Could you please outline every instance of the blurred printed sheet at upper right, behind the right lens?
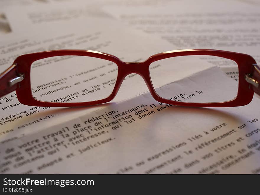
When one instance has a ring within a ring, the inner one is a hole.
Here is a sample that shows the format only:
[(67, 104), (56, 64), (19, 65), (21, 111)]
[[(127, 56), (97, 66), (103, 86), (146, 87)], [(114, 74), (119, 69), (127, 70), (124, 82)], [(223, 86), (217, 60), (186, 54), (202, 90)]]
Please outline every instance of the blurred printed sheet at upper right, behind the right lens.
[(178, 49), (208, 48), (246, 53), (258, 62), (259, 6), (235, 1), (181, 1), (166, 6), (102, 8), (132, 28)]

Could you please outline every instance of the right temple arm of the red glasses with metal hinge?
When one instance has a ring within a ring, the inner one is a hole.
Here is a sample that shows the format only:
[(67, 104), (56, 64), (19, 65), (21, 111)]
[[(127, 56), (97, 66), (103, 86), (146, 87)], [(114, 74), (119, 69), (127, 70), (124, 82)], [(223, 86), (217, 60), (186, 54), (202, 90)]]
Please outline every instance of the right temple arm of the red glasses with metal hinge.
[(260, 68), (258, 65), (253, 64), (254, 68), (251, 74), (247, 74), (245, 79), (252, 85), (252, 90), (260, 95)]

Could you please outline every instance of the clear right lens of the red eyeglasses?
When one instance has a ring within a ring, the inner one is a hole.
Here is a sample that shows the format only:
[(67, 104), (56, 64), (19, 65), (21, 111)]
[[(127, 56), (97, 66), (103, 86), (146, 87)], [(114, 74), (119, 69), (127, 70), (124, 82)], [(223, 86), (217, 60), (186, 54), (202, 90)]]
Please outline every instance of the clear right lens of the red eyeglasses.
[(238, 65), (230, 59), (208, 55), (170, 57), (152, 62), (149, 71), (156, 93), (164, 99), (214, 103), (237, 96)]

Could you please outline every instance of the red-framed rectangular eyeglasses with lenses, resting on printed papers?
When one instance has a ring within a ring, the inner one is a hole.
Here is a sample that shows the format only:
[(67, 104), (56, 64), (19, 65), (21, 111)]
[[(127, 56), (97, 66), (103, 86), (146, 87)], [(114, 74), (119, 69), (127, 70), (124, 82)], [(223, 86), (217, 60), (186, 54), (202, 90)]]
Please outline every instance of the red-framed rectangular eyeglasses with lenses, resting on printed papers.
[(135, 79), (133, 73), (164, 104), (235, 107), (260, 94), (260, 68), (246, 54), (187, 49), (122, 62), (99, 51), (55, 50), (17, 57), (0, 75), (0, 97), (16, 90), (20, 103), (30, 106), (102, 104), (116, 96), (125, 77)]

